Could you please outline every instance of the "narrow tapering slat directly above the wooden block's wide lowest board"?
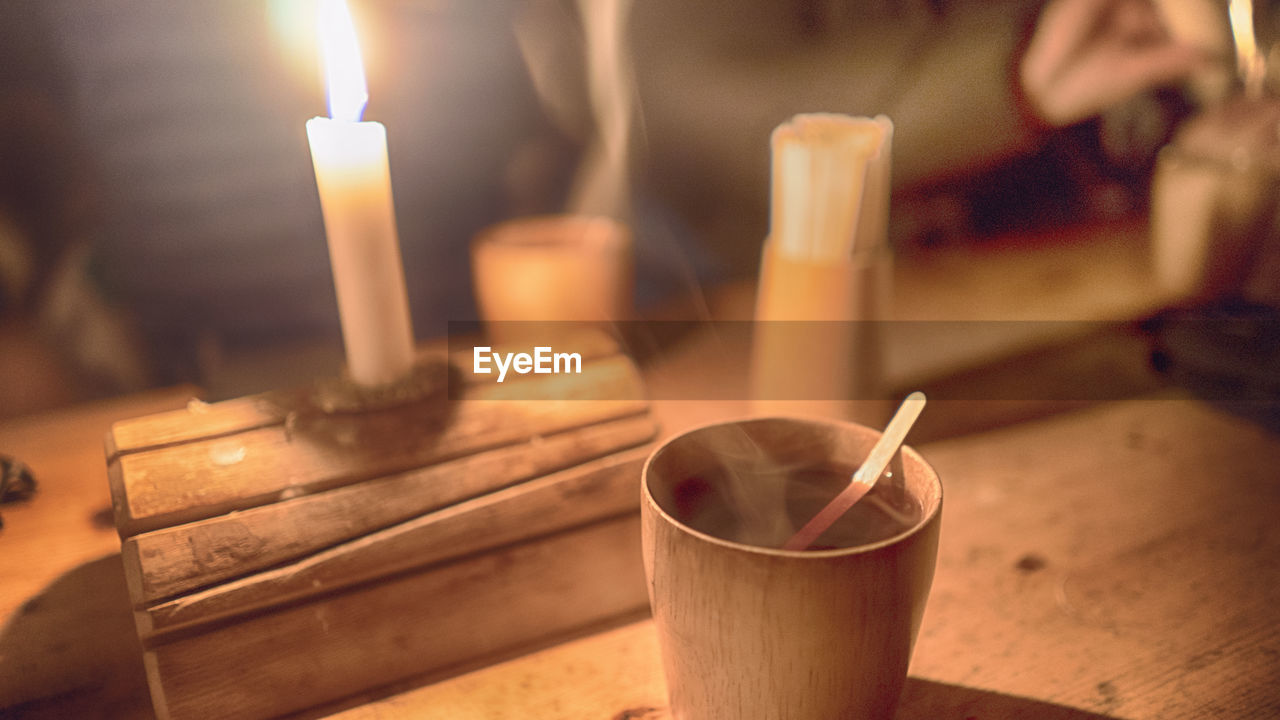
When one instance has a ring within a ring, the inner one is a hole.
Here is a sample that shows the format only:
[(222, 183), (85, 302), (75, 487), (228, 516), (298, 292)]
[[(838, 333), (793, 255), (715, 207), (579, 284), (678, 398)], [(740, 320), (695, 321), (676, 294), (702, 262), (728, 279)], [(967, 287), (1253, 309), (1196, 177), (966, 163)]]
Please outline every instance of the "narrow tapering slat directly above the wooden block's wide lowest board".
[(518, 543), (599, 518), (634, 514), (646, 448), (621, 452), (479, 496), (296, 562), (138, 609), (143, 641), (243, 616), (397, 573)]

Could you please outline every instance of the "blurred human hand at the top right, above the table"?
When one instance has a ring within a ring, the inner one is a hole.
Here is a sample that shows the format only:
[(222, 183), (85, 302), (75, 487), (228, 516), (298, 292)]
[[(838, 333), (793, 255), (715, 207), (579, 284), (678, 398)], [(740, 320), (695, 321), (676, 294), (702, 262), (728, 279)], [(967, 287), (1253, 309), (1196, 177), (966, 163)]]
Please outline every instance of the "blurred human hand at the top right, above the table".
[(1151, 0), (1051, 0), (1018, 79), (1032, 109), (1064, 127), (1185, 79), (1207, 60), (1170, 36)]

